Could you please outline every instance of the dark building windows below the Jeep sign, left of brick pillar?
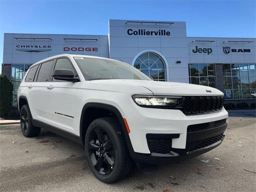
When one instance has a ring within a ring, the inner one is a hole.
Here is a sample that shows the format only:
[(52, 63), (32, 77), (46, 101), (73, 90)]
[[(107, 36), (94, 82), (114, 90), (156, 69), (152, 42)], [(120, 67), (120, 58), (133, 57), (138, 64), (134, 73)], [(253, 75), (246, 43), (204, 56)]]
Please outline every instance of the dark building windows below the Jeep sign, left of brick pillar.
[(216, 68), (212, 63), (188, 64), (189, 82), (217, 88)]

